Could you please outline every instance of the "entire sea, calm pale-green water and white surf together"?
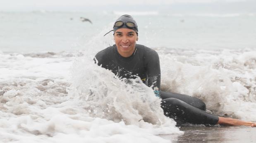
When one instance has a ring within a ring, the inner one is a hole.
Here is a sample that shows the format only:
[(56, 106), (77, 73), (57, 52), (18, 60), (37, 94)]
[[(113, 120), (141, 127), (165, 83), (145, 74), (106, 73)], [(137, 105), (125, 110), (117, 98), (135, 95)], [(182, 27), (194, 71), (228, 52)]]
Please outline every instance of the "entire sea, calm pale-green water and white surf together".
[[(160, 99), (92, 59), (124, 12), (0, 12), (0, 142), (168, 143)], [(130, 12), (160, 57), (161, 89), (256, 121), (256, 14)], [(82, 22), (80, 17), (89, 18)]]

